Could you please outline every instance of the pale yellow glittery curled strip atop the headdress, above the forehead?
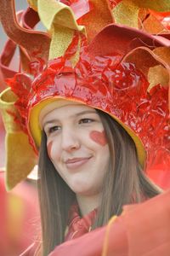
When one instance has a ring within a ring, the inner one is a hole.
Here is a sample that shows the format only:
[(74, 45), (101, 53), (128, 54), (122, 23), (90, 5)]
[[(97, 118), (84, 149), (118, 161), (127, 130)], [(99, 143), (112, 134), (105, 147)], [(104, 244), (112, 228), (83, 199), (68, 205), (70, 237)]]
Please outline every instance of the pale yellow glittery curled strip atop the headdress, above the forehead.
[(83, 26), (78, 26), (70, 7), (51, 0), (38, 0), (38, 14), (48, 31), (52, 32), (49, 59), (65, 54), (71, 44), (74, 31), (85, 32)]

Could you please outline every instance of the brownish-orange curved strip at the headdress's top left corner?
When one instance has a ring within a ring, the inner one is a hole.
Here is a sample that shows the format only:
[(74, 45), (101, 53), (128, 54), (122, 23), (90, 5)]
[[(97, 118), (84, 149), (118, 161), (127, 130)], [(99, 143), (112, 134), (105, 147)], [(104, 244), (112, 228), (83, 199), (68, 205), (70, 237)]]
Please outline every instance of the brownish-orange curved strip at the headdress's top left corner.
[[(48, 59), (50, 38), (47, 33), (35, 32), (20, 26), (14, 13), (14, 0), (0, 1), (0, 19), (5, 32), (16, 44), (26, 49), (31, 61), (35, 56)], [(42, 44), (43, 42), (43, 44)]]

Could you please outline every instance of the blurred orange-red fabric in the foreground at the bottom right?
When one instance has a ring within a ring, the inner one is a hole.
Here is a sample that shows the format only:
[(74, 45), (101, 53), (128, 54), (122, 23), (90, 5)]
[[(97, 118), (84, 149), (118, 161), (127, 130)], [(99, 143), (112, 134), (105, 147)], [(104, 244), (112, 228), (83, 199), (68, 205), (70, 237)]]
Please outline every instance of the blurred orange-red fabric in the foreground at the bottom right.
[(103, 252), (108, 226), (56, 247), (49, 256), (169, 256), (170, 190), (139, 205), (124, 207), (111, 224), (108, 247)]

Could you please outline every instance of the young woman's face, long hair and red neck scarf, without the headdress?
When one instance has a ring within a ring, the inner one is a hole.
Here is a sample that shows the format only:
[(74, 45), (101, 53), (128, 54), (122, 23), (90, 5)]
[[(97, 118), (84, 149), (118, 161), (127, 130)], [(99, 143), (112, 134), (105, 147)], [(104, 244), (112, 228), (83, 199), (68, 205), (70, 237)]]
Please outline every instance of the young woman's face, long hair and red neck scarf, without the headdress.
[(133, 139), (109, 114), (65, 100), (47, 108), (40, 113), (39, 195), (48, 253), (159, 190), (145, 176)]

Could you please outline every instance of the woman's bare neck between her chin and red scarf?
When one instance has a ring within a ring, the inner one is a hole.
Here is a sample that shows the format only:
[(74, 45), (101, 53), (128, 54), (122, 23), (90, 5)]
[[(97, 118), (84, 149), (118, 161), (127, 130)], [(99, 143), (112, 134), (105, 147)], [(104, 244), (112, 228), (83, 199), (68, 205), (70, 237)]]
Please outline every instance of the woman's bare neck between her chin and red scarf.
[(77, 202), (82, 216), (92, 212), (95, 208), (99, 207), (100, 195), (77, 195)]

